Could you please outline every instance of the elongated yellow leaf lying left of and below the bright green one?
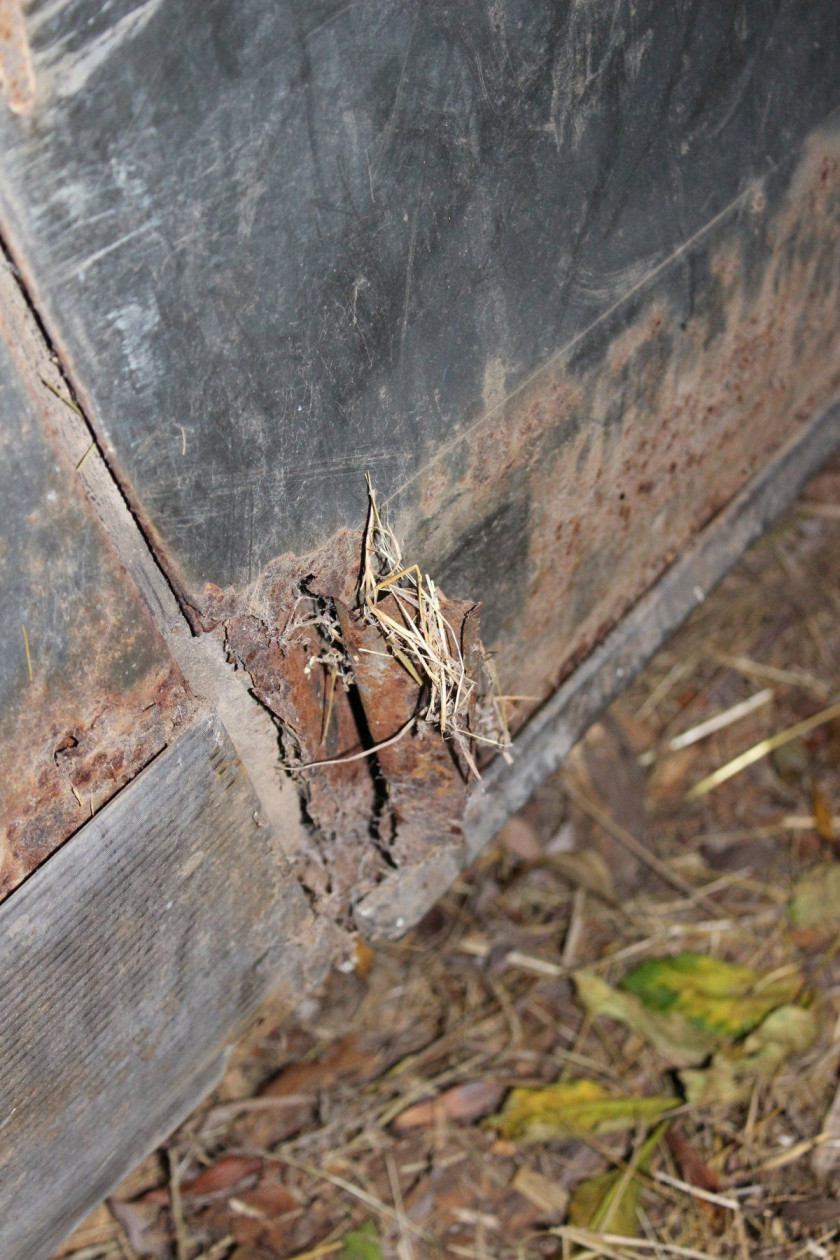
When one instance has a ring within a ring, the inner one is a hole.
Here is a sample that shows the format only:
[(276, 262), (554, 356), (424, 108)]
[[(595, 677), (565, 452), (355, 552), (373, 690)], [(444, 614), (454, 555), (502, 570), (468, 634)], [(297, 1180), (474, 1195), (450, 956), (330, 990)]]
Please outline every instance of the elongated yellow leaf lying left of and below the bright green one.
[(559, 1081), (513, 1089), (489, 1124), (510, 1140), (550, 1142), (579, 1133), (623, 1133), (652, 1124), (679, 1102), (675, 1097), (615, 1097), (597, 1081)]

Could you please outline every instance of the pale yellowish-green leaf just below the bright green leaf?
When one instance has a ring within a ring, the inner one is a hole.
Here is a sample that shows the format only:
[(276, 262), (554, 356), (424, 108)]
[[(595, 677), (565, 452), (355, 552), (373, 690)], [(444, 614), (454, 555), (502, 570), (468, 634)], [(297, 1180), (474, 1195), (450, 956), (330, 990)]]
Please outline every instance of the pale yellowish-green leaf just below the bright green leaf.
[(739, 1046), (729, 1046), (704, 1071), (680, 1072), (689, 1102), (746, 1102), (757, 1080), (768, 1080), (791, 1055), (802, 1053), (820, 1032), (814, 1011), (785, 1005)]

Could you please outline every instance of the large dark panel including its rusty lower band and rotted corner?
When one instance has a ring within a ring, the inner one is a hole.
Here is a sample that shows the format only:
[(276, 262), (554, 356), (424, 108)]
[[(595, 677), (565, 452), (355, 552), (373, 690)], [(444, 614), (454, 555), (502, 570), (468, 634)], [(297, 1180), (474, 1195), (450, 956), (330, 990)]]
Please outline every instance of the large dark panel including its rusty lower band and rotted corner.
[(840, 388), (836, 5), (37, 0), (25, 35), (0, 227), (350, 924), (467, 798), (419, 730), (309, 766), (411, 712), (295, 624), (366, 633), (364, 472), (523, 728)]

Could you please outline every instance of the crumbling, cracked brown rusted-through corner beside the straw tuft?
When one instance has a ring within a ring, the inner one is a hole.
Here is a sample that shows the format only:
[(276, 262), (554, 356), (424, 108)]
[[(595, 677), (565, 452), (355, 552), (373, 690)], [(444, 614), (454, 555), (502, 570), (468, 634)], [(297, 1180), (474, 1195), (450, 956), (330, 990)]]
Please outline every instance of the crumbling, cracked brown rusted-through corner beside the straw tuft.
[[(417, 683), (387, 653), (379, 630), (353, 611), (361, 548), (361, 534), (345, 530), (310, 557), (280, 557), (244, 596), (209, 587), (203, 617), (278, 721), (311, 824), (301, 879), (324, 912), (348, 922), (389, 871), (421, 861), (436, 844), (460, 842), (467, 795), (466, 767), (452, 746), (422, 721), (412, 724), (422, 699)], [(336, 641), (351, 674), (346, 687), (332, 687), (319, 660), (327, 640), (307, 624), (312, 601), (338, 619)], [(447, 601), (446, 611), (468, 655), (477, 610)], [(372, 747), (345, 764), (309, 765)]]

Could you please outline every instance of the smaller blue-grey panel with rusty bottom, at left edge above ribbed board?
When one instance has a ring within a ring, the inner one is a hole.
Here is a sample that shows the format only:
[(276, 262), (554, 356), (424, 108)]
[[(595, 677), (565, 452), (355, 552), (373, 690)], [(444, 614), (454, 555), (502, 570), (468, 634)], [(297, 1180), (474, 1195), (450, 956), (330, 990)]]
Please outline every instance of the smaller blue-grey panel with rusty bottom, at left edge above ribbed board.
[(193, 708), (8, 334), (0, 312), (0, 900)]

